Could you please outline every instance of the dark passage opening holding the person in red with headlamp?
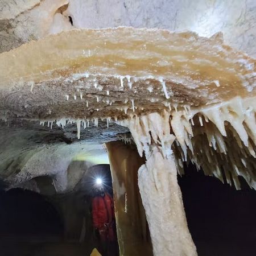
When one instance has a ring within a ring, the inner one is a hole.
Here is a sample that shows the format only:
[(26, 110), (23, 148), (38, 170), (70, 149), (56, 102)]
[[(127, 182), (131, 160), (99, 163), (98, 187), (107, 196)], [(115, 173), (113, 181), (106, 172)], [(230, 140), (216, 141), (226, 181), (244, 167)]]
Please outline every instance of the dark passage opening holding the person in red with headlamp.
[[(85, 200), (89, 205), (93, 231), (89, 229), (87, 233), (93, 233), (91, 240), (94, 247), (102, 256), (118, 256), (112, 175), (109, 164), (90, 167), (81, 180), (80, 187), (84, 189)], [(82, 233), (81, 231), (81, 236)]]

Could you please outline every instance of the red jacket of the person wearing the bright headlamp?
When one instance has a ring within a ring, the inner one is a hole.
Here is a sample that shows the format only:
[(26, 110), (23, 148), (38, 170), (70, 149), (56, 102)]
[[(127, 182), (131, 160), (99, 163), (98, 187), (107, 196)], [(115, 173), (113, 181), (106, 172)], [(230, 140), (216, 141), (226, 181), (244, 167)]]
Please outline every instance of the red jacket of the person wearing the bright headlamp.
[(92, 200), (92, 217), (94, 228), (104, 228), (104, 224), (112, 224), (114, 220), (114, 203), (112, 197), (105, 193)]

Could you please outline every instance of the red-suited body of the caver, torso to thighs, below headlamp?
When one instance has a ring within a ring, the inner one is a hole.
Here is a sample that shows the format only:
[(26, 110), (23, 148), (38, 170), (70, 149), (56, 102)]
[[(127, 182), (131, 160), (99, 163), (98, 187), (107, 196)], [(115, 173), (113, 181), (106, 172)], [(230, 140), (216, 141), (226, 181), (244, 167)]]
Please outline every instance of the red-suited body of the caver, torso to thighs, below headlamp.
[(93, 226), (98, 229), (101, 241), (114, 241), (114, 203), (108, 193), (93, 197), (92, 217)]

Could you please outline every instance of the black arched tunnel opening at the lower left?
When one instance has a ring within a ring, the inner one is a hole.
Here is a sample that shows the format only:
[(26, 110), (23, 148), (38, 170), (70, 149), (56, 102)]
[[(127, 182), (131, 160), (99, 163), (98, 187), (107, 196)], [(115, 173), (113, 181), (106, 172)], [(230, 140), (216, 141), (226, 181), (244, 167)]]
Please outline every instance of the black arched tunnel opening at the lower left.
[(0, 192), (0, 236), (62, 236), (63, 222), (44, 196), (20, 188)]

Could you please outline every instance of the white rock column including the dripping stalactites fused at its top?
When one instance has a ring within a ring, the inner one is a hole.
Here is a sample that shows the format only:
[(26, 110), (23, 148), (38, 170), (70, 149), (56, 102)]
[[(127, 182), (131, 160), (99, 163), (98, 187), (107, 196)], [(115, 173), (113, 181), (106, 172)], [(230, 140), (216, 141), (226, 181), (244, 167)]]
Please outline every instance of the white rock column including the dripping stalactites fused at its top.
[(177, 184), (171, 150), (175, 137), (170, 134), (169, 118), (167, 112), (152, 113), (119, 123), (129, 127), (139, 154), (144, 151), (146, 155), (147, 162), (139, 169), (138, 183), (154, 255), (197, 255)]

